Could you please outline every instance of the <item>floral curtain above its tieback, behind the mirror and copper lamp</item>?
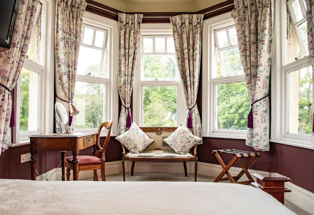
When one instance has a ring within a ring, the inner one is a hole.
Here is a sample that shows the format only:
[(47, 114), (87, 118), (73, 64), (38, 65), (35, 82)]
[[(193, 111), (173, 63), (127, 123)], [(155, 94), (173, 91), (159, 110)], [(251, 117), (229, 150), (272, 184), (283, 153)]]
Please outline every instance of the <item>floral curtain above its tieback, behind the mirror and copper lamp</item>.
[[(57, 0), (55, 13), (56, 95), (67, 107), (73, 102), (85, 0)], [(71, 125), (72, 117), (69, 117)], [(72, 127), (73, 129), (73, 127)]]

